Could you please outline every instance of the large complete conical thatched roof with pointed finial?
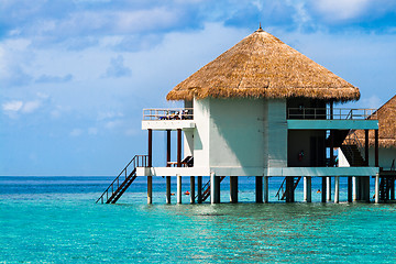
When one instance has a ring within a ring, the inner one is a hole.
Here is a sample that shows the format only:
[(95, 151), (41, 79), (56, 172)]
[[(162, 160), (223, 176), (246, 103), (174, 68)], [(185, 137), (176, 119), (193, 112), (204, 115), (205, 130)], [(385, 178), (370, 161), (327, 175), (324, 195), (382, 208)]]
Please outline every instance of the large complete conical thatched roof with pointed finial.
[(178, 84), (167, 100), (206, 97), (359, 100), (359, 89), (272, 34), (257, 30)]

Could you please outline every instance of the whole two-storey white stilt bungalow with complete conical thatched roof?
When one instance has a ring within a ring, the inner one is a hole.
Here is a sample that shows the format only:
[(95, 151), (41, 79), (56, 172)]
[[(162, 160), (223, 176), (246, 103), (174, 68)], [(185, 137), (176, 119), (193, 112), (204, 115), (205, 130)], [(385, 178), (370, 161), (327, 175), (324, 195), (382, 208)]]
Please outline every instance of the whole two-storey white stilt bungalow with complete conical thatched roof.
[[(358, 193), (359, 199), (369, 201), (370, 178), (375, 176), (378, 202), (376, 114), (371, 109), (333, 108), (334, 102), (359, 98), (356, 87), (260, 28), (169, 91), (166, 99), (184, 101), (183, 109), (143, 111), (147, 155), (133, 157), (97, 202), (114, 204), (139, 176), (147, 177), (148, 204), (153, 176), (166, 177), (168, 204), (172, 177), (177, 178), (178, 204), (186, 176), (190, 202), (210, 197), (218, 204), (224, 178), (230, 180), (230, 202), (238, 202), (239, 176), (255, 177), (256, 202), (268, 202), (270, 177), (284, 177), (277, 197), (287, 202), (295, 200), (295, 189), (304, 178), (304, 199), (310, 202), (311, 177), (321, 177), (326, 202), (331, 200), (333, 177), (333, 199), (339, 202), (339, 177), (348, 177), (348, 201)], [(153, 130), (166, 132), (164, 167), (153, 167)], [(333, 150), (354, 130), (374, 133), (375, 155), (370, 161), (365, 155), (363, 164), (339, 167)], [(172, 131), (177, 132), (174, 162)], [(202, 176), (210, 176), (204, 186)]]

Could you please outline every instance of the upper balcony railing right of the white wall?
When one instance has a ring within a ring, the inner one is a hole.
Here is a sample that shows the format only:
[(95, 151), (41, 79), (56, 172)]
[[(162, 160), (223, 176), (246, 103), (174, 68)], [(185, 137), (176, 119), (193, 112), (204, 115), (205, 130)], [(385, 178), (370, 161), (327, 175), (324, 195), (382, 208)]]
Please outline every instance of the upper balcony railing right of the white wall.
[(334, 108), (288, 108), (287, 119), (334, 119), (334, 120), (358, 120), (377, 119), (376, 109), (351, 109)]

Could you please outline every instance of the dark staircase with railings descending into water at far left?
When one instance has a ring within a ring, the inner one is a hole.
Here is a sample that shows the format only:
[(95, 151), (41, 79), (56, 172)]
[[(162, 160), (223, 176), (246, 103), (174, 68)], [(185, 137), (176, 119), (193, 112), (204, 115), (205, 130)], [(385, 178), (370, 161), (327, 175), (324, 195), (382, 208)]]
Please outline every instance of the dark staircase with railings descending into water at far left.
[(116, 204), (138, 177), (136, 168), (147, 166), (147, 155), (135, 155), (96, 202)]

